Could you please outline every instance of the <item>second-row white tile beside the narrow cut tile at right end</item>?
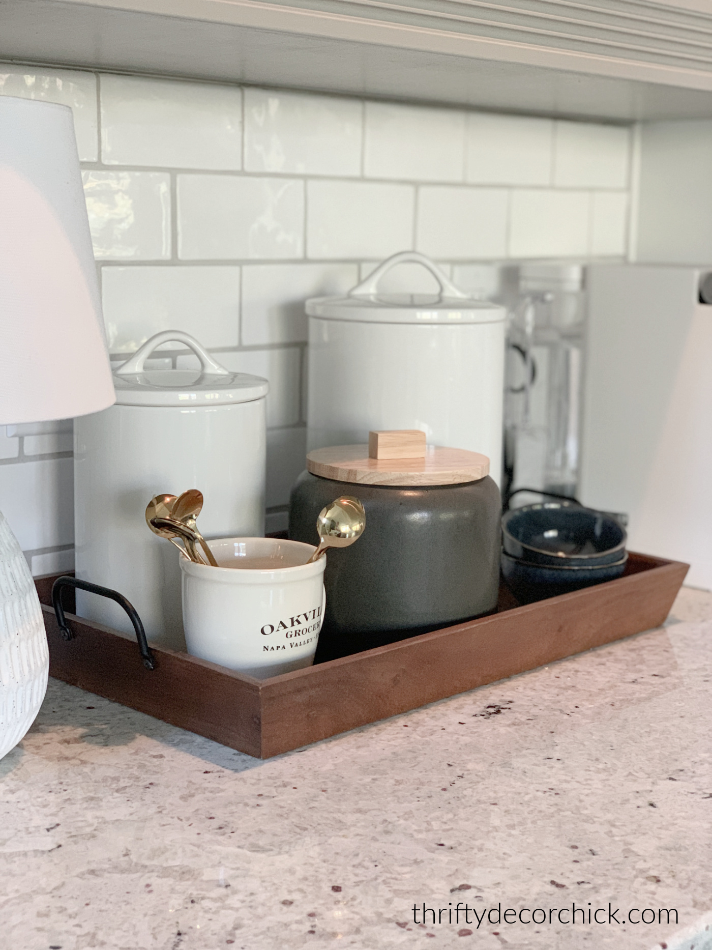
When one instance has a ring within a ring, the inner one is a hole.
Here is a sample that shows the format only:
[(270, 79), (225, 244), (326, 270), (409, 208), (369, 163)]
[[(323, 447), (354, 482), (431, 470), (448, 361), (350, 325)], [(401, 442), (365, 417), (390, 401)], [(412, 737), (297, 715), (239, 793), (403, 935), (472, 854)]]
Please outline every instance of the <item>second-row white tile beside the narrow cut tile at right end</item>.
[(589, 193), (516, 189), (512, 193), (511, 257), (579, 257), (589, 250)]

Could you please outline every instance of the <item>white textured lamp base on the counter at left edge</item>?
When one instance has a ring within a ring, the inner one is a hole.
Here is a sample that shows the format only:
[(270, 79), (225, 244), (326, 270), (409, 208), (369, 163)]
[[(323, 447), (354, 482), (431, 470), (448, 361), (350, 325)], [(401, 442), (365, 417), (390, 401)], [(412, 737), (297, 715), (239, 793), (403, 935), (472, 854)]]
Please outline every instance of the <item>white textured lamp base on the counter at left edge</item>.
[(28, 562), (0, 511), (0, 759), (34, 722), (48, 673), (40, 601)]

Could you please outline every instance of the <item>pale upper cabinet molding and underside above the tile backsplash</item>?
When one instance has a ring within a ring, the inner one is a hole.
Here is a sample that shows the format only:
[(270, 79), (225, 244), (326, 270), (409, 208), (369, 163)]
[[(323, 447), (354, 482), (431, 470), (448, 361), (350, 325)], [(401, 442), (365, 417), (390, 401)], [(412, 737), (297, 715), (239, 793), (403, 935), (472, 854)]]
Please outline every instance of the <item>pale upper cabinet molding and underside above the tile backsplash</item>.
[(0, 22), (5, 60), (621, 121), (712, 115), (701, 0), (0, 0)]

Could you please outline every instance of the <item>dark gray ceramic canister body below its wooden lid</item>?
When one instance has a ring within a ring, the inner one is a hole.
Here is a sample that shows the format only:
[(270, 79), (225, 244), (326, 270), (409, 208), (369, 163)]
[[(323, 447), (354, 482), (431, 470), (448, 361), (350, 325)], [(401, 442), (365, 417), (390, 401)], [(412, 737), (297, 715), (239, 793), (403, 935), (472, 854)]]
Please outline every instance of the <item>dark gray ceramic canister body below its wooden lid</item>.
[[(353, 467), (340, 471), (354, 475)], [(289, 530), (295, 541), (318, 543), (317, 516), (340, 495), (354, 496), (365, 507), (361, 538), (350, 547), (328, 551), (327, 606), (317, 661), (496, 609), (501, 518), (497, 485), (488, 475), (450, 485), (412, 484), (417, 477), (411, 473), (410, 485), (373, 485), (308, 470), (293, 486)]]

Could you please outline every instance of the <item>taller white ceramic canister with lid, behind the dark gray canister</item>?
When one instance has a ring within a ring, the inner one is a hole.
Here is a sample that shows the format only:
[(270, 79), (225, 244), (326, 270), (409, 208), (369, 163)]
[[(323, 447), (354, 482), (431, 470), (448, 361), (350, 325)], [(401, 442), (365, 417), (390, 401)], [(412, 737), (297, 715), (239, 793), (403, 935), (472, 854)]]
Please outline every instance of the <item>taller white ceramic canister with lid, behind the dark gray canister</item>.
[[(379, 294), (387, 271), (418, 262), (440, 294)], [(343, 297), (307, 301), (308, 450), (368, 441), (371, 429), (420, 428), (435, 446), (489, 457), (500, 481), (503, 307), (460, 291), (429, 258), (389, 257)]]

